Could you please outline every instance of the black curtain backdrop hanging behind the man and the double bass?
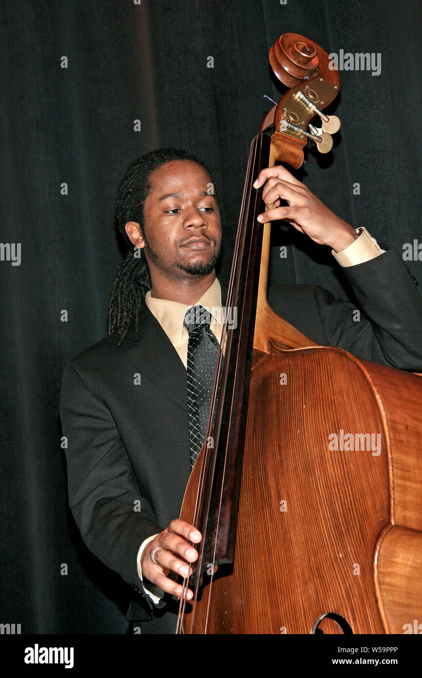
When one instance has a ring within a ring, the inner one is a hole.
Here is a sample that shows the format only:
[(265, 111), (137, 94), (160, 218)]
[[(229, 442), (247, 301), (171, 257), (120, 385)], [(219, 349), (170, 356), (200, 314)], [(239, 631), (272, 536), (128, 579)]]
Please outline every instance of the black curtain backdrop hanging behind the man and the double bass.
[[(335, 147), (326, 157), (308, 148), (297, 176), (380, 241), (421, 242), (421, 3), (17, 0), (2, 14), (1, 241), (20, 243), (21, 260), (0, 261), (0, 622), (22, 633), (122, 634), (128, 589), (70, 515), (58, 416), (64, 365), (106, 334), (122, 256), (119, 179), (157, 146), (203, 157), (228, 273), (249, 144), (272, 106), (263, 97), (284, 92), (268, 52), (294, 31), (327, 52), (381, 54), (378, 76), (340, 73)], [(422, 262), (408, 266), (422, 283)], [(271, 277), (347, 298), (331, 254), (276, 227)]]

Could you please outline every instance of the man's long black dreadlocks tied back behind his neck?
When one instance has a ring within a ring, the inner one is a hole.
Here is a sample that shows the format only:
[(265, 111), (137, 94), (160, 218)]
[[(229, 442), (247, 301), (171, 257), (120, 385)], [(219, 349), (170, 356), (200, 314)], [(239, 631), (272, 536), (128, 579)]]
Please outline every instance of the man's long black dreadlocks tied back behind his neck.
[(139, 317), (146, 292), (151, 289), (150, 272), (143, 250), (133, 247), (125, 225), (128, 221), (140, 224), (144, 229), (144, 203), (151, 190), (150, 176), (171, 160), (190, 160), (201, 165), (211, 174), (206, 165), (196, 155), (183, 148), (157, 148), (136, 159), (127, 168), (119, 184), (116, 195), (116, 222), (129, 251), (117, 269), (110, 300), (108, 302), (107, 332), (118, 332), (119, 344), (123, 342), (132, 321), (135, 332), (139, 330)]

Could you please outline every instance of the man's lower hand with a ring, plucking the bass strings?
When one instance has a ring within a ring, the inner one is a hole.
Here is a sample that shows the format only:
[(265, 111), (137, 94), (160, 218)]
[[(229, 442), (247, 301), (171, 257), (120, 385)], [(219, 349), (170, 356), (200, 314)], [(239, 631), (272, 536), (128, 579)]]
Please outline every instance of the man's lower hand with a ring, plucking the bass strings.
[[(193, 570), (189, 563), (196, 561), (198, 551), (189, 542), (198, 544), (201, 539), (201, 532), (190, 523), (179, 518), (172, 520), (169, 527), (157, 534), (146, 545), (141, 559), (142, 576), (152, 584), (159, 586), (163, 591), (180, 598), (182, 596), (182, 584), (177, 584), (167, 575), (169, 572), (175, 572), (186, 578), (192, 574)], [(154, 553), (154, 559), (158, 565), (151, 559), (151, 553), (154, 549), (159, 549)], [(192, 595), (191, 589), (186, 589), (185, 597), (188, 600), (192, 598)]]

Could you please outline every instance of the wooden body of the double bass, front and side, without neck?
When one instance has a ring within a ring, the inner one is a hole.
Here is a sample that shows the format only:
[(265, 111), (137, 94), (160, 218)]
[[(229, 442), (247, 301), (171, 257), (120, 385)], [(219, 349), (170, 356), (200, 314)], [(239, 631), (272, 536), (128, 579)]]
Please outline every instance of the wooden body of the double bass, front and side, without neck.
[(422, 380), (339, 348), (267, 351), (253, 352), (232, 572), (219, 566), (210, 599), (205, 584), (191, 632), (404, 633), (422, 622)]

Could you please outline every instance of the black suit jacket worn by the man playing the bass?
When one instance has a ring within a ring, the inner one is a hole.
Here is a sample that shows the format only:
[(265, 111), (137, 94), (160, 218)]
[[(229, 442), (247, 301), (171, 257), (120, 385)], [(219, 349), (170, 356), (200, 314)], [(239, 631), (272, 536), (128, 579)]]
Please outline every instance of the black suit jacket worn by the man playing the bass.
[[(421, 296), (398, 250), (344, 272), (360, 321), (354, 304), (311, 285), (270, 287), (270, 305), (318, 344), (422, 371)], [(111, 334), (66, 366), (60, 416), (69, 503), (83, 540), (142, 596), (138, 549), (179, 516), (190, 475), (186, 370), (145, 304), (138, 334), (121, 346)], [(140, 616), (140, 608), (129, 612)]]

